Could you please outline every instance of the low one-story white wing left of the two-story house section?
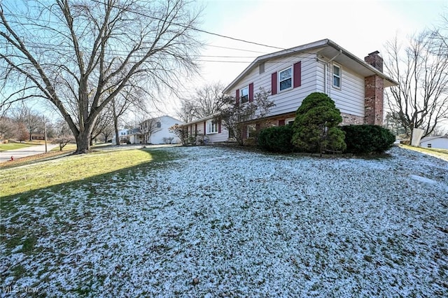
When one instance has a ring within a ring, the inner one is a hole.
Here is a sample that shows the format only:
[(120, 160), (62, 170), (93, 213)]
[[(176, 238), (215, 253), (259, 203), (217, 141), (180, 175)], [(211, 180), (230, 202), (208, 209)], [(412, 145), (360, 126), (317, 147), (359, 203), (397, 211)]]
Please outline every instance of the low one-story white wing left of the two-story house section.
[(211, 115), (183, 125), (185, 136), (193, 136), (197, 141), (204, 140), (205, 143), (220, 143), (228, 141), (232, 136), (223, 125), (219, 115)]

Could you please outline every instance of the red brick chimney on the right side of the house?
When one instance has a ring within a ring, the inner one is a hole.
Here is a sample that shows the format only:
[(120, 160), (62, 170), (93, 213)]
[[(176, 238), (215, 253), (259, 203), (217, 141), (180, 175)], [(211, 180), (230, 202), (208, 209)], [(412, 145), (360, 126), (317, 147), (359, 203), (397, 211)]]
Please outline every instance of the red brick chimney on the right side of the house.
[[(383, 58), (378, 51), (371, 52), (364, 61), (375, 69), (383, 72)], [(365, 113), (364, 123), (369, 125), (383, 125), (384, 82), (378, 75), (367, 76), (365, 83)]]

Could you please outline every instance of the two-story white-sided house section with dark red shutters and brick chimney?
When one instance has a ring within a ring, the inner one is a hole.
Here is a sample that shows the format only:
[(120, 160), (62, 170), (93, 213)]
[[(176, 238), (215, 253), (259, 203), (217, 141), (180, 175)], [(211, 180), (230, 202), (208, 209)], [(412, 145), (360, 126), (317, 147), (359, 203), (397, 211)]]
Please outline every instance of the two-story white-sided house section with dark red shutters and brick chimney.
[(270, 90), (274, 108), (266, 118), (248, 122), (244, 137), (259, 129), (261, 122), (293, 122), (295, 111), (312, 92), (323, 92), (335, 101), (342, 125), (382, 125), (384, 88), (398, 85), (382, 71), (379, 52), (362, 60), (323, 39), (256, 58), (223, 93), (234, 96), (236, 104), (244, 104), (253, 101), (260, 88)]

